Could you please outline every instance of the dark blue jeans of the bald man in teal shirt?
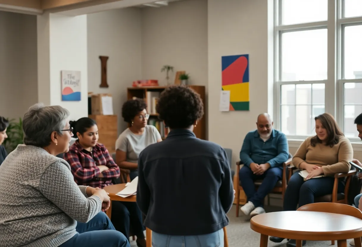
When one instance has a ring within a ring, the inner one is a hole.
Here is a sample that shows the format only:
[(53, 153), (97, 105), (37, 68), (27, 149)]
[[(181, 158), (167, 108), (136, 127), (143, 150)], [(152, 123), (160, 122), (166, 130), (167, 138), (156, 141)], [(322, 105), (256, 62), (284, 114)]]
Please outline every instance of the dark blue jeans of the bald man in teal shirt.
[[(280, 167), (269, 168), (262, 175), (254, 174), (246, 165), (239, 171), (241, 186), (247, 195), (248, 201), (252, 202), (255, 207), (263, 207), (265, 196), (273, 190), (277, 182), (282, 178), (282, 175), (283, 169)], [(257, 179), (263, 179), (263, 182), (256, 191), (254, 181)]]

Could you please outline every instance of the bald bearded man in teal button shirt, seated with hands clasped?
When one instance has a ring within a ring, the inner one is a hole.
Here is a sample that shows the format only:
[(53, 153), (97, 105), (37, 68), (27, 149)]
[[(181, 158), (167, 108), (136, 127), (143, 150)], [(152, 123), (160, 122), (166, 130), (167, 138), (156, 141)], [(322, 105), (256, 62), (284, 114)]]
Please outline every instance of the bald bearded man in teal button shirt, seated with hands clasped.
[[(265, 213), (263, 202), (276, 183), (282, 178), (283, 162), (288, 160), (289, 149), (286, 136), (273, 129), (268, 113), (258, 116), (257, 130), (249, 132), (240, 151), (239, 179), (248, 202), (241, 207), (251, 217)], [(254, 181), (262, 179), (258, 190)]]

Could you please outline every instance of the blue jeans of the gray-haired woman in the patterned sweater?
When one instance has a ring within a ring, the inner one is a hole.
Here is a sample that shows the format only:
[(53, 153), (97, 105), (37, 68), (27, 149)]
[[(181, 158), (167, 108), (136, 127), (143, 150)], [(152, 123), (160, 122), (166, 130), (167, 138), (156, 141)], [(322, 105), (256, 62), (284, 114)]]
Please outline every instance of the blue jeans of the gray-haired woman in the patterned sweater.
[(100, 212), (88, 223), (77, 222), (77, 234), (60, 247), (130, 247), (128, 239), (114, 229), (108, 216)]

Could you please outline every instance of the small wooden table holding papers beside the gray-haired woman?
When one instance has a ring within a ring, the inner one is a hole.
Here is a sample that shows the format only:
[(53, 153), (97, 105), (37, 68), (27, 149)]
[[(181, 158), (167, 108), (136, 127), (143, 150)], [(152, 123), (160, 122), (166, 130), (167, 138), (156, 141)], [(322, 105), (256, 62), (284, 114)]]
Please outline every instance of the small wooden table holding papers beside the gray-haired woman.
[[(136, 196), (128, 196), (123, 198), (121, 196), (116, 195), (119, 191), (123, 190), (126, 187), (125, 183), (120, 183), (118, 185), (110, 185), (104, 187), (104, 190), (109, 193), (109, 197), (111, 199), (111, 205), (109, 209), (106, 211), (106, 214), (109, 218), (112, 215), (112, 201), (120, 201), (120, 202), (136, 202)], [(152, 231), (146, 227), (146, 246), (152, 246)]]

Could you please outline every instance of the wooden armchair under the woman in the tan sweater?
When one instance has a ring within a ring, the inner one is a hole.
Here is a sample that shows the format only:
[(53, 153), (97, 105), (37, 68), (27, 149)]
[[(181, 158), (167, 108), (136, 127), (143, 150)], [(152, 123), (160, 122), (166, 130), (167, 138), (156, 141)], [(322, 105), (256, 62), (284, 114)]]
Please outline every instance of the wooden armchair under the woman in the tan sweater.
[[(289, 169), (289, 179), (293, 174), (293, 170), (296, 168), (293, 165), (288, 166)], [(349, 183), (351, 182), (351, 178), (356, 174), (356, 170), (350, 170), (348, 173), (336, 173), (334, 174), (334, 185), (332, 194), (324, 195), (315, 198), (315, 203), (323, 203), (323, 202), (332, 202), (332, 203), (344, 203), (348, 204), (348, 191), (349, 191)], [(345, 178), (345, 188), (344, 193), (338, 193), (338, 180)], [(288, 179), (288, 181), (289, 181)]]

